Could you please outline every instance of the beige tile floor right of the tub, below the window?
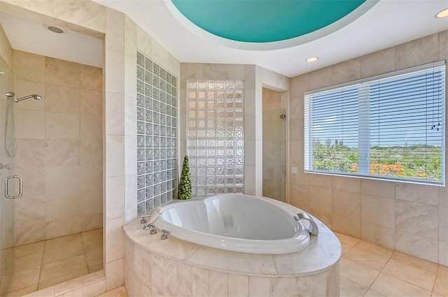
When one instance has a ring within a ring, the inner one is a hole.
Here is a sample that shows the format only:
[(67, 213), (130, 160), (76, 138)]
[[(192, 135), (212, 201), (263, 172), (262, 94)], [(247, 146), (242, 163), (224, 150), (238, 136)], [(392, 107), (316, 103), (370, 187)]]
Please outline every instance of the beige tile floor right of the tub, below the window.
[(340, 296), (448, 297), (448, 267), (336, 233)]

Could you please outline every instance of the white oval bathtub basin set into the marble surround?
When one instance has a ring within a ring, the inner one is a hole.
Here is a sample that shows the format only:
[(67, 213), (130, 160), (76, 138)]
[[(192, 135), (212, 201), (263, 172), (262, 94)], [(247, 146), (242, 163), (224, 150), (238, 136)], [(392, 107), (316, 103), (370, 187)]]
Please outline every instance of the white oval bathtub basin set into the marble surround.
[[(270, 199), (269, 199), (270, 200)], [(251, 254), (289, 254), (309, 245), (309, 232), (267, 198), (221, 194), (163, 206), (155, 220), (181, 240)]]

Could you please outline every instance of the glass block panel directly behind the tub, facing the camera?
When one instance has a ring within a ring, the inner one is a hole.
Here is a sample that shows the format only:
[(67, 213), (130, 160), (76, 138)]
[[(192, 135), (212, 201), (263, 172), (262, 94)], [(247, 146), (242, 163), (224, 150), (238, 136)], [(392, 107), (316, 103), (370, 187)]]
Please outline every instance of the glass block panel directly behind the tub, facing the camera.
[(193, 196), (244, 192), (244, 82), (187, 81)]

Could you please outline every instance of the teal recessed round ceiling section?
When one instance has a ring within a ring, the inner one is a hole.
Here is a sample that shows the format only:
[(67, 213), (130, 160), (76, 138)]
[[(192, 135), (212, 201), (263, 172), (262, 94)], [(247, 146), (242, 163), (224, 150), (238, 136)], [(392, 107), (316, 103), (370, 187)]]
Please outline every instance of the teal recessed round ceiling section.
[(172, 0), (198, 27), (233, 41), (267, 43), (303, 36), (367, 0)]

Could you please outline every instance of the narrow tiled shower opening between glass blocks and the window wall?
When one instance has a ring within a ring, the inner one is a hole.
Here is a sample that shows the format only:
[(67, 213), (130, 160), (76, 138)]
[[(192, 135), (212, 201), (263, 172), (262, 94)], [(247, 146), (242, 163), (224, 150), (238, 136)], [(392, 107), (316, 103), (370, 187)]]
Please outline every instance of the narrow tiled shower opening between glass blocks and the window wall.
[(262, 196), (286, 202), (286, 92), (262, 89)]

